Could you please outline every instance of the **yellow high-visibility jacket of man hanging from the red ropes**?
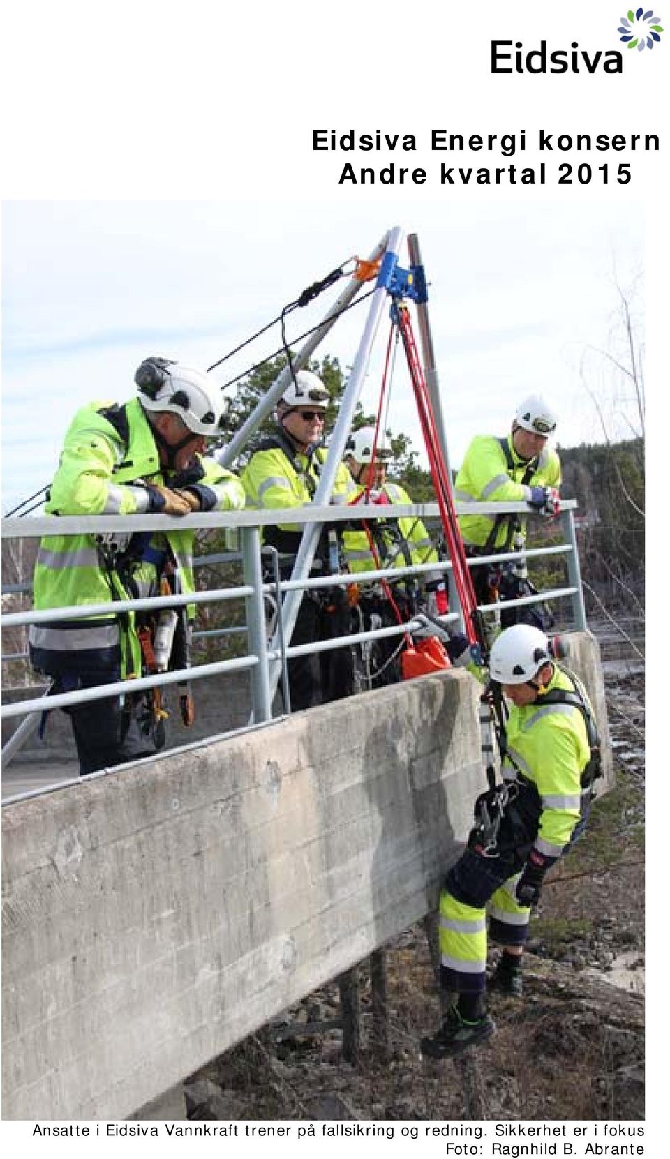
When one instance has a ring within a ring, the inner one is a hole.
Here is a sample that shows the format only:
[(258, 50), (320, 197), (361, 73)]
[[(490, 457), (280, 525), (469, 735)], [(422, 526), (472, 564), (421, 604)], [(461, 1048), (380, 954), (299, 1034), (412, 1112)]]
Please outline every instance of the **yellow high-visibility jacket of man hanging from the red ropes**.
[[(558, 664), (544, 691), (552, 688), (574, 690), (570, 677)], [(525, 779), (539, 799), (536, 848), (546, 858), (558, 858), (581, 816), (582, 772), (590, 758), (584, 717), (574, 705), (512, 706), (507, 751), (504, 779), (522, 785)]]

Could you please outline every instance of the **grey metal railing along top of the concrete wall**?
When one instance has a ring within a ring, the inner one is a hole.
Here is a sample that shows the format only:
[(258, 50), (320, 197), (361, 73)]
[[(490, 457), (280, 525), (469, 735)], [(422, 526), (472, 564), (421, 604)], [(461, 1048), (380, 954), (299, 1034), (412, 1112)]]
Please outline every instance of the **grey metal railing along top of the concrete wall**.
[[(577, 504), (574, 500), (562, 502), (562, 510), (559, 517), (562, 529), (562, 541), (560, 544), (525, 548), (523, 552), (505, 552), (503, 554), (476, 556), (468, 560), (468, 566), (471, 568), (478, 568), (486, 566), (489, 562), (500, 563), (507, 561), (541, 559), (552, 555), (565, 555), (568, 576), (568, 584), (566, 586), (538, 591), (534, 596), (526, 596), (515, 600), (505, 600), (504, 606), (505, 608), (510, 608), (514, 606), (523, 606), (538, 602), (569, 597), (571, 600), (571, 626), (575, 630), (583, 630), (587, 626), (587, 621), (575, 538), (574, 510)], [(460, 503), (457, 504), (457, 511), (459, 515), (532, 513), (525, 504), (519, 503)], [(376, 505), (361, 505), (356, 508), (357, 525), (359, 525), (358, 522), (361, 519), (373, 522), (379, 518), (388, 520), (418, 517), (425, 522), (431, 522), (437, 516), (438, 508), (436, 504), (415, 504), (410, 506), (389, 505), (384, 508), (384, 515), (380, 515), (379, 506)], [(407, 576), (421, 577), (424, 573), (435, 573), (436, 570), (442, 570), (445, 575), (449, 575), (451, 571), (451, 563), (446, 559), (440, 560), (437, 564), (427, 563), (417, 567), (385, 568), (374, 571), (340, 573), (337, 575), (312, 575), (309, 578), (303, 578), (300, 581), (279, 580), (278, 570), (275, 568), (274, 580), (268, 583), (263, 578), (264, 569), (262, 563), (262, 552), (267, 552), (268, 549), (262, 548), (261, 546), (262, 529), (264, 526), (276, 525), (279, 518), (282, 522), (285, 522), (286, 512), (245, 510), (226, 513), (192, 515), (190, 517), (179, 519), (179, 523), (169, 516), (64, 516), (59, 517), (58, 520), (54, 520), (53, 517), (3, 519), (2, 538), (35, 538), (54, 533), (58, 533), (59, 535), (81, 533), (123, 535), (148, 530), (154, 532), (175, 530), (175, 526), (179, 526), (180, 531), (185, 529), (192, 529), (195, 531), (235, 530), (241, 540), (241, 554), (238, 555), (236, 559), (241, 559), (242, 584), (230, 588), (217, 588), (207, 591), (195, 591), (189, 595), (115, 600), (114, 612), (117, 613), (130, 610), (147, 611), (162, 607), (180, 607), (184, 605), (195, 605), (197, 607), (207, 603), (243, 600), (246, 606), (246, 630), (248, 642), (248, 651), (246, 655), (230, 659), (220, 659), (213, 663), (197, 664), (188, 670), (182, 669), (179, 671), (168, 671), (133, 679), (132, 693), (141, 692), (154, 686), (183, 683), (185, 679), (192, 681), (205, 677), (248, 670), (252, 683), (252, 723), (257, 724), (267, 722), (271, 719), (274, 691), (277, 687), (278, 679), (282, 675), (285, 679), (286, 663), (291, 657), (301, 656), (307, 653), (358, 644), (367, 640), (400, 636), (407, 633), (412, 634), (413, 632), (417, 632), (422, 627), (425, 627), (425, 621), (421, 621), (420, 618), (414, 618), (407, 624), (398, 626), (359, 632), (352, 635), (337, 636), (327, 641), (323, 640), (318, 643), (301, 646), (290, 646), (290, 643), (286, 643), (282, 632), (279, 630), (278, 636), (275, 637), (278, 640), (278, 647), (271, 647), (268, 642), (265, 622), (267, 596), (272, 596), (275, 602), (279, 603), (286, 592), (294, 591), (297, 589), (332, 589), (335, 585), (347, 586), (350, 584), (371, 584), (380, 580), (399, 581)], [(344, 524), (351, 520), (351, 509), (347, 506), (333, 505), (327, 508), (296, 508), (291, 510), (290, 518), (292, 524), (305, 526), (318, 523), (328, 523), (329, 525), (340, 523)], [(232, 561), (235, 556), (226, 553), (226, 555), (198, 556), (197, 559), (198, 563), (205, 564), (212, 563), (213, 561)], [(28, 588), (28, 584), (8, 584), (7, 589), (3, 589), (2, 593), (3, 596), (8, 593), (12, 595), (27, 590)], [(500, 612), (500, 604), (480, 605), (480, 611), (486, 615), (490, 615)], [(85, 619), (92, 615), (109, 615), (109, 612), (110, 605), (108, 603), (99, 605), (78, 605), (67, 608), (59, 607), (49, 611), (30, 610), (21, 612), (3, 612), (2, 627), (9, 628), (26, 626), (29, 624), (48, 624), (50, 621), (63, 619)], [(459, 620), (458, 611), (453, 611), (444, 617), (440, 617), (440, 621), (444, 625), (453, 625), (457, 620)], [(281, 625), (282, 621), (279, 617), (279, 628)], [(231, 630), (242, 633), (243, 626), (234, 629), (214, 629), (214, 632), (220, 634), (230, 634)], [(207, 633), (207, 635), (211, 634), (212, 633)], [(21, 654), (16, 654), (16, 656), (21, 656)], [(14, 658), (13, 654), (9, 654), (7, 658)], [(122, 680), (117, 684), (105, 684), (100, 687), (49, 695), (49, 708), (66, 708), (73, 704), (81, 704), (89, 700), (101, 700), (109, 698), (110, 695), (123, 695), (124, 693), (129, 693), (129, 684), (128, 681)], [(44, 697), (37, 697), (15, 704), (3, 705), (1, 715), (2, 719), (20, 715), (22, 716), (26, 714), (42, 712), (44, 710)], [(8, 755), (13, 755), (13, 752), (16, 751), (17, 746), (14, 742), (14, 737), (10, 739), (9, 745), (13, 745), (10, 753), (7, 753), (8, 746), (3, 749), (2, 755), (5, 759), (8, 758)]]

